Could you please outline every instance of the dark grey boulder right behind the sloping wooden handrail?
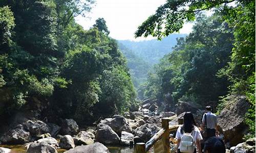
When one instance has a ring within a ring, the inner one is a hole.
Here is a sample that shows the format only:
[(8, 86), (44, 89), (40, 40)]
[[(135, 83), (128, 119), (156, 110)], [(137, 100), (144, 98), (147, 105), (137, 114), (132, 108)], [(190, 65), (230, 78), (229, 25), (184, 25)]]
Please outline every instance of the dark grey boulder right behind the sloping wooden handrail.
[(155, 124), (146, 123), (135, 129), (135, 136), (138, 136), (142, 142), (146, 142), (150, 140), (150, 138), (153, 137), (154, 134), (156, 134), (159, 130), (160, 127), (156, 126)]

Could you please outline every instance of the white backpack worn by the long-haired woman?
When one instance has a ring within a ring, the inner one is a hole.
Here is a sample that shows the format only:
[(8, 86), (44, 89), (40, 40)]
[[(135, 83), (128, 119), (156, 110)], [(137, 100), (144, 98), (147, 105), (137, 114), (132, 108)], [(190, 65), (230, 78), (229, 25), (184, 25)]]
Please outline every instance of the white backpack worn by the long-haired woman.
[[(182, 129), (181, 131), (183, 132)], [(181, 152), (193, 153), (195, 151), (195, 141), (193, 136), (191, 135), (193, 132), (194, 130), (191, 133), (184, 133), (181, 136), (181, 139), (180, 139)]]

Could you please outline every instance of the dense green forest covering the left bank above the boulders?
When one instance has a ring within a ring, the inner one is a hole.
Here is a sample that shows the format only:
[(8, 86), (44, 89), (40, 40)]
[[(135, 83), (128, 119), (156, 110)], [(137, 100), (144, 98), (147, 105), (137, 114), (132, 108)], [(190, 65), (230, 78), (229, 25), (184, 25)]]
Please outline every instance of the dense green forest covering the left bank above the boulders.
[(90, 30), (75, 22), (93, 3), (0, 2), (3, 118), (26, 112), (49, 121), (63, 117), (90, 123), (135, 103), (126, 60), (108, 37), (104, 19)]

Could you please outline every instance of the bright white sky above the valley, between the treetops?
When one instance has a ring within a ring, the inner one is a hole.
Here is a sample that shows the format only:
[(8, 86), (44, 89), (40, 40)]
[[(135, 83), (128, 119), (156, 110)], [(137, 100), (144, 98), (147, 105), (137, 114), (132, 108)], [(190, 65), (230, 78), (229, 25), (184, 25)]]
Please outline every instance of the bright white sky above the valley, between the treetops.
[[(78, 16), (76, 22), (86, 30), (90, 29), (97, 18), (103, 17), (110, 31), (110, 37), (117, 40), (149, 40), (153, 37), (134, 38), (138, 26), (155, 13), (166, 0), (96, 0), (87, 17)], [(193, 23), (185, 23), (181, 34), (191, 32)]]

